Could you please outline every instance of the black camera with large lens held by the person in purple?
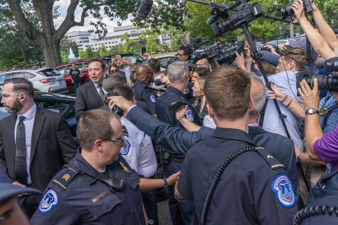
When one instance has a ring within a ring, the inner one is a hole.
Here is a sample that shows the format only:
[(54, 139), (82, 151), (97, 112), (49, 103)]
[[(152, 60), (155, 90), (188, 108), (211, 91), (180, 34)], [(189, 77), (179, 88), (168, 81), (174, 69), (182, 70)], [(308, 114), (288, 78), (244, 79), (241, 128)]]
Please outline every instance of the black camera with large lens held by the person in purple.
[[(325, 91), (338, 91), (338, 76), (325, 76), (325, 75), (311, 75), (308, 71), (300, 71), (296, 73), (296, 86), (300, 88), (300, 82), (305, 80), (306, 83), (313, 89), (313, 81), (317, 78), (318, 90)], [(299, 94), (298, 94), (299, 96)]]

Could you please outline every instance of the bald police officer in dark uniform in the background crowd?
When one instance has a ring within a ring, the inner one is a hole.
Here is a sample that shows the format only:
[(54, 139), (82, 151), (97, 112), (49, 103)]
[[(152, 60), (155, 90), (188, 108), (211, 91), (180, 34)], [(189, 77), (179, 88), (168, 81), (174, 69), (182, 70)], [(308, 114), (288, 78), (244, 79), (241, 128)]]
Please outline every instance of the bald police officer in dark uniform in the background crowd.
[(150, 113), (156, 116), (156, 93), (147, 89), (150, 83), (153, 82), (153, 72), (147, 65), (139, 65), (136, 69), (136, 82), (131, 87), (135, 92), (135, 99), (137, 101), (145, 102), (149, 108)]

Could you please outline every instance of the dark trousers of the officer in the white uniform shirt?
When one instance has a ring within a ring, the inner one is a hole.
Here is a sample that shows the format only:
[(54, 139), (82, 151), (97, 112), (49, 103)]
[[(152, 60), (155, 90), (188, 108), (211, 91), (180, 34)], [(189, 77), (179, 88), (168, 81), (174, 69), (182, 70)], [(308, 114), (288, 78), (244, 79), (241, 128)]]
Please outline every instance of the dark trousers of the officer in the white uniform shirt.
[(154, 224), (159, 224), (159, 218), (157, 216), (157, 201), (156, 201), (156, 191), (143, 191), (141, 192), (143, 205), (145, 206), (148, 219), (154, 220)]

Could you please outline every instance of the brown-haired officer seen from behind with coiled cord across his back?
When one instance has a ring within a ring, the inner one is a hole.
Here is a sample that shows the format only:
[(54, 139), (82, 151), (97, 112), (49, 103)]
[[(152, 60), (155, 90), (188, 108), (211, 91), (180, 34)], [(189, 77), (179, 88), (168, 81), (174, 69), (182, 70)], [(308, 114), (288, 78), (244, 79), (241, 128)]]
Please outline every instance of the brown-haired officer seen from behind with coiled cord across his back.
[[(189, 149), (175, 191), (180, 201), (194, 201), (192, 224), (291, 224), (298, 205), (284, 166), (253, 147), (247, 133), (248, 72), (238, 67), (213, 71), (205, 94), (217, 128)], [(219, 172), (221, 166), (225, 169)], [(211, 188), (216, 174), (218, 183)]]

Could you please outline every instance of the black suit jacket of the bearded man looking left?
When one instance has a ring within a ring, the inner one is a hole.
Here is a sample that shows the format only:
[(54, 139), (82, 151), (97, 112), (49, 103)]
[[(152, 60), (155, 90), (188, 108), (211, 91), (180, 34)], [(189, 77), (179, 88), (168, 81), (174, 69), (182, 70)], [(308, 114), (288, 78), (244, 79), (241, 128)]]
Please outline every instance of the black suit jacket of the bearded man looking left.
[[(17, 114), (0, 120), (0, 169), (15, 181), (14, 130)], [(59, 113), (36, 107), (33, 124), (30, 177), (33, 188), (44, 191), (64, 164), (71, 162), (76, 146), (71, 130)]]

